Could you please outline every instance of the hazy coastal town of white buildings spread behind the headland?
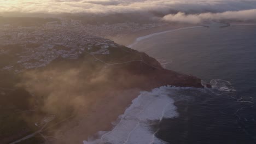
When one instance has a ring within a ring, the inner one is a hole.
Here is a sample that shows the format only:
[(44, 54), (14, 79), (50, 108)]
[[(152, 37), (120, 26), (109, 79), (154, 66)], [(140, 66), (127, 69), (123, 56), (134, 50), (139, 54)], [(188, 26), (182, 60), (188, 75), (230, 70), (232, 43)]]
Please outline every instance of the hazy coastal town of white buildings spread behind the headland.
[[(78, 58), (93, 46), (100, 46), (92, 55), (107, 55), (109, 46), (117, 44), (106, 39), (109, 36), (123, 35), (165, 25), (165, 23), (138, 24), (104, 23), (102, 25), (84, 25), (82, 21), (58, 19), (35, 26), (16, 26), (14, 23), (0, 25), (0, 55), (12, 52), (18, 58), (13, 63), (4, 65), (2, 70), (38, 68), (49, 64), (57, 57)], [(11, 48), (10, 48), (11, 47)]]

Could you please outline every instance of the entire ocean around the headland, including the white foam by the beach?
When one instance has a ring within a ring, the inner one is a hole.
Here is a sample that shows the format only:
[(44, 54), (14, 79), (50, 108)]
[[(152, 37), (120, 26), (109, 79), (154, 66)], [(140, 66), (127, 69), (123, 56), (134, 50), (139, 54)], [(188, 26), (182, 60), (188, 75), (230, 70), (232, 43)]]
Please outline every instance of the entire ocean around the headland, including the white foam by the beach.
[(188, 27), (137, 38), (166, 69), (210, 88), (141, 92), (112, 131), (84, 143), (256, 143), (256, 25)]

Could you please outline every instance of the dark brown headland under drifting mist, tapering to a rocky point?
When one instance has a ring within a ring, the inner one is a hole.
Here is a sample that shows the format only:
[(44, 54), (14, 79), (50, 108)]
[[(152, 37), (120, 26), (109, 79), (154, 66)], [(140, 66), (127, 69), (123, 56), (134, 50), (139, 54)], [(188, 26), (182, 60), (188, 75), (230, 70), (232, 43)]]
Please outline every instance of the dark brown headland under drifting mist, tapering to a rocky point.
[(100, 41), (96, 44), (72, 49), (45, 44), (0, 47), (0, 111), (4, 113), (0, 119), (6, 125), (1, 129), (0, 143), (18, 139), (20, 134), (32, 133), (49, 122), (49, 127), (54, 127), (81, 110), (90, 111), (92, 105), (110, 99), (112, 96), (107, 95), (115, 91), (143, 91), (164, 85), (203, 87), (197, 77), (164, 69), (146, 53), (99, 39), (93, 40)]

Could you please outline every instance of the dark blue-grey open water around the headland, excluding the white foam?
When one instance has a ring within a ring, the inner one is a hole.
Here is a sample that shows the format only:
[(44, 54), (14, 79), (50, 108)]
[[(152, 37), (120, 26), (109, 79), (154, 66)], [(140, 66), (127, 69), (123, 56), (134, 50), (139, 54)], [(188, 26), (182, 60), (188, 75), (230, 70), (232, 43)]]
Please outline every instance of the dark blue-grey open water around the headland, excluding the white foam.
[[(176, 102), (179, 117), (160, 123), (160, 139), (256, 143), (256, 26), (184, 29), (132, 48), (159, 59), (167, 69), (218, 82), (216, 89), (184, 92), (193, 98)], [(223, 86), (229, 91), (220, 91)]]

